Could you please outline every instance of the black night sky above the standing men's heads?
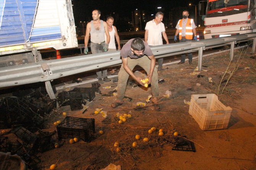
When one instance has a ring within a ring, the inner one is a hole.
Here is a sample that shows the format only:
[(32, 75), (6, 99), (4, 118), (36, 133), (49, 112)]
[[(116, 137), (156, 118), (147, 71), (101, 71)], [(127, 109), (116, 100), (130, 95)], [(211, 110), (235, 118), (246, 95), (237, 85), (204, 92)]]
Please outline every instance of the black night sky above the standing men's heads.
[[(190, 7), (189, 3), (198, 4), (200, 0), (72, 0), (75, 22), (87, 21), (92, 10), (99, 9), (102, 15), (118, 13), (120, 17), (130, 17), (136, 8), (154, 13), (157, 6), (162, 6), (166, 11), (175, 7)], [(154, 13), (155, 14), (155, 13)]]

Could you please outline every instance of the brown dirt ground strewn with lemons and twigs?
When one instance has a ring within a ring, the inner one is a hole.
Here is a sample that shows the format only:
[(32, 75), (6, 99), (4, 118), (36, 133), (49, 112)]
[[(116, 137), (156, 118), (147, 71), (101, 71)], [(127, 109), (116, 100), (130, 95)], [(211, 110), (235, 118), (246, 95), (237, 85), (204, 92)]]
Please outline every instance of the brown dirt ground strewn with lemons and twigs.
[[(154, 110), (151, 101), (146, 103), (151, 89), (138, 86), (127, 86), (126, 96), (133, 100), (125, 99), (118, 108), (110, 106), (115, 96), (101, 94), (96, 94), (94, 100), (87, 103), (89, 108), (84, 113), (84, 110), (71, 111), (69, 106), (61, 107), (46, 128), (55, 129), (53, 122), (65, 119), (62, 112), (66, 111), (67, 116), (95, 119), (94, 140), (70, 144), (67, 139), (59, 148), (38, 154), (42, 160), (39, 169), (49, 169), (58, 161), (57, 170), (99, 170), (111, 163), (120, 165), (122, 170), (255, 170), (256, 59), (249, 51), (251, 49), (235, 50), (230, 65), (229, 52), (204, 57), (203, 70), (199, 73), (202, 76), (195, 71), (196, 59), (192, 65), (186, 62), (165, 66), (158, 72), (159, 79), (164, 79), (159, 84), (160, 111)], [(193, 72), (196, 75), (191, 75)], [(143, 77), (143, 70), (136, 75)], [(111, 88), (104, 89), (106, 86)], [(110, 81), (102, 84), (100, 90), (102, 94), (112, 94), (115, 87), (117, 82)], [(164, 97), (167, 90), (172, 92), (170, 97)], [(232, 108), (227, 129), (200, 129), (188, 113), (190, 105), (184, 102), (190, 101), (193, 94), (218, 94), (219, 100)], [(146, 106), (137, 108), (137, 102), (146, 103)], [(107, 117), (94, 114), (96, 108), (107, 111)], [(131, 118), (118, 124), (117, 113), (131, 114)], [(157, 130), (149, 134), (151, 127)], [(163, 129), (163, 136), (158, 135), (159, 129)], [(104, 133), (99, 134), (99, 130)], [(178, 132), (178, 137), (174, 132)], [(141, 136), (139, 140), (135, 139), (137, 134)], [(143, 138), (149, 141), (143, 142)], [(194, 143), (195, 152), (172, 150), (173, 142), (184, 138)], [(136, 147), (132, 147), (134, 141)], [(119, 143), (119, 152), (114, 147), (115, 142)]]

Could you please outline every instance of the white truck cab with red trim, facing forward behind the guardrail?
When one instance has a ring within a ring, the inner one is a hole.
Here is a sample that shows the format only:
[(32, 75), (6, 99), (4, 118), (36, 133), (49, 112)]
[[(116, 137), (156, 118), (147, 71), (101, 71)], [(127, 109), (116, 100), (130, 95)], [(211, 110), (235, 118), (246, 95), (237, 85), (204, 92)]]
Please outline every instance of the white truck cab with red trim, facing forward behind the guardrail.
[(256, 31), (256, 0), (208, 0), (204, 39)]

